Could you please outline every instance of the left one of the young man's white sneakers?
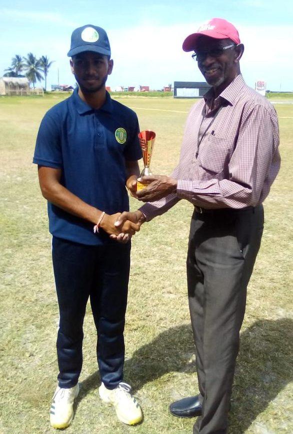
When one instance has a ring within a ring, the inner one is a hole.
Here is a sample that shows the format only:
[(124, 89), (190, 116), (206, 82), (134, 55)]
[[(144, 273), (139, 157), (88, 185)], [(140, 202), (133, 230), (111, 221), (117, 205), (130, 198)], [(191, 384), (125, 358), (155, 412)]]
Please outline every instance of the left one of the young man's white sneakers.
[(70, 425), (73, 418), (73, 402), (78, 393), (78, 383), (69, 389), (57, 386), (50, 409), (50, 424), (53, 428), (62, 429)]

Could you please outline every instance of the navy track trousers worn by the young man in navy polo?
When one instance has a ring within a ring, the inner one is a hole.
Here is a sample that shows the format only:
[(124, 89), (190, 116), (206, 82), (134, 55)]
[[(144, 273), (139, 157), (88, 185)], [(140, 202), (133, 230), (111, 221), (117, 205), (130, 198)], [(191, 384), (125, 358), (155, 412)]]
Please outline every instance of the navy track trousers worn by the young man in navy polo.
[(73, 387), (82, 366), (83, 319), (88, 298), (97, 330), (101, 380), (109, 389), (122, 380), (123, 330), (130, 242), (89, 246), (53, 237), (52, 260), (59, 305), (58, 384)]

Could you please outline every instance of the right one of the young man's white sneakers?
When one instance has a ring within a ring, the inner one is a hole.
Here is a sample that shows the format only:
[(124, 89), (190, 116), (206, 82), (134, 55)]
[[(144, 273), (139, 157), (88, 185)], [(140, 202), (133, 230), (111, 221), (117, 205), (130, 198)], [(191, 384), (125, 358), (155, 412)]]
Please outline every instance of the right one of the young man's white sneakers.
[(101, 383), (98, 393), (104, 402), (114, 406), (121, 422), (135, 425), (142, 420), (142, 411), (136, 399), (131, 396), (130, 390), (129, 384), (123, 382), (120, 382), (113, 390), (107, 389), (104, 383)]

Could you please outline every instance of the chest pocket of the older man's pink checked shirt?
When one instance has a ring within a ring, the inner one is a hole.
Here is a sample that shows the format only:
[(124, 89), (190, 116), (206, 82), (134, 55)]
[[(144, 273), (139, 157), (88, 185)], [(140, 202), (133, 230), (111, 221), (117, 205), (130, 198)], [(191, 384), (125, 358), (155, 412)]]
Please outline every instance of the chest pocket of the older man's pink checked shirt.
[(210, 134), (208, 140), (199, 146), (198, 164), (208, 172), (224, 172), (228, 168), (232, 149), (232, 138), (217, 137)]

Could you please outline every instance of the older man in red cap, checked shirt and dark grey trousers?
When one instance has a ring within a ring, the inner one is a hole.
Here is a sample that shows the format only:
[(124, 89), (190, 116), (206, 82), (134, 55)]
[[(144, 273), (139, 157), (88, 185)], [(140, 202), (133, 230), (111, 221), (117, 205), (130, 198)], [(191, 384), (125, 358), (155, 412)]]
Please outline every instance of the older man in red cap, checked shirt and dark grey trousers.
[(122, 214), (116, 225), (126, 218), (142, 224), (180, 199), (194, 205), (187, 284), (199, 394), (173, 402), (170, 411), (199, 416), (194, 433), (222, 434), (262, 235), (262, 202), (280, 166), (278, 124), (270, 103), (244, 83), (244, 47), (232, 24), (210, 20), (185, 39), (183, 50), (194, 51), (212, 87), (189, 112), (178, 166), (170, 177), (141, 178), (146, 187), (137, 198), (151, 203)]

